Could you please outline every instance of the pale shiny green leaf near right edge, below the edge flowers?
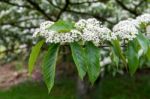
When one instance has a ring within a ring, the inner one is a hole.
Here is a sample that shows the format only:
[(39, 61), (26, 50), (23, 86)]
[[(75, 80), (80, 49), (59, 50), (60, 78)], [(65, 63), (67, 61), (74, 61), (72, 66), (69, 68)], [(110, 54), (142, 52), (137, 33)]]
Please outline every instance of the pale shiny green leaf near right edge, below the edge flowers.
[(148, 40), (141, 33), (139, 33), (137, 35), (137, 40), (138, 40), (141, 48), (144, 50), (144, 53), (146, 53), (148, 50)]

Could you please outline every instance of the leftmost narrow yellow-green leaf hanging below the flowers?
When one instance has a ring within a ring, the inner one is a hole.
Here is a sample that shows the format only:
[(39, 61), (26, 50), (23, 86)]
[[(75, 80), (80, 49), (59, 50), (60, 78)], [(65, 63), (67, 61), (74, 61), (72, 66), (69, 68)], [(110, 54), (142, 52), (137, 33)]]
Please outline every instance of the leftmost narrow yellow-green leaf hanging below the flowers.
[(34, 47), (32, 47), (32, 51), (29, 57), (29, 63), (28, 63), (28, 70), (29, 73), (31, 74), (36, 62), (36, 59), (40, 53), (41, 47), (44, 44), (44, 40), (39, 41)]

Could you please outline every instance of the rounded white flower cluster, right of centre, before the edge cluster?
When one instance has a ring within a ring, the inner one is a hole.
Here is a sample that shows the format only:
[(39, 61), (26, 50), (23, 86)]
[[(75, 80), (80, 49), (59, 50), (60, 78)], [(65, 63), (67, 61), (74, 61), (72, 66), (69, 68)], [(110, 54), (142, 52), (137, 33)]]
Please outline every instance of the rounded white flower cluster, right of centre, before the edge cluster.
[(134, 22), (136, 21), (131, 19), (120, 21), (113, 27), (113, 32), (121, 39), (133, 40), (138, 34), (137, 24)]

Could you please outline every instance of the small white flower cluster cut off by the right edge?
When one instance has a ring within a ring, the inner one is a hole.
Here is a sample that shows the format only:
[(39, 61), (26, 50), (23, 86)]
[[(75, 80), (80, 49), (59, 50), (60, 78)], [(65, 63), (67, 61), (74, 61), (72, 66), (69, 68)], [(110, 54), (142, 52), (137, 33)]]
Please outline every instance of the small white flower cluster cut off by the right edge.
[(138, 16), (136, 20), (141, 23), (150, 23), (150, 14), (143, 14), (141, 16)]

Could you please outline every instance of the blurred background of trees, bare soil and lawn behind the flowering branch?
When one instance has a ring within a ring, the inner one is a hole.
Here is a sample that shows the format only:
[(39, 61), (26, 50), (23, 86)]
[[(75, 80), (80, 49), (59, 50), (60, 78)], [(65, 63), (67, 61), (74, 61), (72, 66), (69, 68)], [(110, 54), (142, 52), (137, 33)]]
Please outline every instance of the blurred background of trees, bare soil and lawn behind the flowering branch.
[(0, 0), (0, 99), (78, 99), (82, 93), (86, 93), (82, 99), (150, 99), (148, 69), (131, 77), (108, 66), (88, 92), (82, 88), (71, 56), (62, 54), (50, 94), (40, 70), (44, 49), (32, 76), (27, 70), (37, 41), (32, 34), (41, 22), (96, 18), (112, 28), (143, 13), (150, 13), (150, 0)]

